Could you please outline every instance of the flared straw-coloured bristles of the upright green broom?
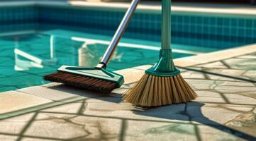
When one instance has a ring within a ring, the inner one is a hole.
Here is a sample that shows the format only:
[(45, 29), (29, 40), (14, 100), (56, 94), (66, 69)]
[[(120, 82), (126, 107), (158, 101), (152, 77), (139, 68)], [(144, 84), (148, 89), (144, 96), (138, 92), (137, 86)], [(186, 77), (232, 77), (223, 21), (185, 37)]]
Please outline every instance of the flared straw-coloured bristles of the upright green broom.
[(135, 106), (163, 106), (190, 102), (197, 97), (182, 75), (158, 77), (143, 75), (124, 99)]

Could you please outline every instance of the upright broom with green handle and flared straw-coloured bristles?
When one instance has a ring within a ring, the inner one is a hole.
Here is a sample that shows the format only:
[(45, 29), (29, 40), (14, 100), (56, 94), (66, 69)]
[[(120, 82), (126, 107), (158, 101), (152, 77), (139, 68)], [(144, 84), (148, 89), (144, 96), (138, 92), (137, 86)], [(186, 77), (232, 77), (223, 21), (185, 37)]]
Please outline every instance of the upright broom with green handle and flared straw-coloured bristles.
[(189, 87), (174, 66), (171, 40), (171, 0), (162, 0), (162, 47), (160, 59), (145, 71), (140, 81), (124, 99), (135, 106), (162, 106), (190, 102), (196, 93)]

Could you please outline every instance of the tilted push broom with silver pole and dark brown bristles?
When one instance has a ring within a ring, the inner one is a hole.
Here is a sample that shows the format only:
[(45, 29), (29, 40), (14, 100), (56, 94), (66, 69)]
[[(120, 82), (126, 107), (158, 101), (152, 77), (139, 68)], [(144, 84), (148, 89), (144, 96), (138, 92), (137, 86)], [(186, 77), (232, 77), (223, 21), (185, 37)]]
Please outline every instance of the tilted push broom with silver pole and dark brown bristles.
[(45, 75), (45, 80), (52, 82), (62, 82), (66, 85), (72, 85), (74, 87), (81, 87), (87, 90), (94, 90), (97, 92), (109, 93), (112, 90), (121, 87), (124, 79), (122, 75), (113, 73), (106, 69), (108, 62), (111, 59), (113, 52), (115, 51), (118, 42), (123, 36), (128, 23), (130, 22), (139, 0), (133, 0), (128, 11), (126, 11), (121, 24), (116, 30), (111, 43), (105, 51), (101, 61), (95, 68), (84, 68), (77, 66), (61, 66), (57, 69), (57, 73)]

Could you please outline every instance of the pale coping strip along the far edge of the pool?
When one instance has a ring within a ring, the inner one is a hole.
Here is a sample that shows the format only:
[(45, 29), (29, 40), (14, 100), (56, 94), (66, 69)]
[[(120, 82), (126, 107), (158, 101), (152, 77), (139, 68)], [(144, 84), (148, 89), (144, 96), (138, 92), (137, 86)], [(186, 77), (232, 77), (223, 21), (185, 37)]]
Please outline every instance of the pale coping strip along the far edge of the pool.
[[(129, 3), (124, 2), (88, 2), (88, 1), (3, 1), (0, 2), (0, 8), (4, 6), (62, 6), (62, 7), (77, 7), (77, 8), (101, 8), (101, 10), (106, 10), (111, 8), (112, 10), (124, 10), (128, 8)], [(179, 13), (188, 13), (188, 14), (199, 14), (199, 15), (208, 15), (211, 16), (256, 16), (256, 9), (250, 6), (245, 6), (240, 8), (239, 6), (228, 6), (227, 8), (221, 7), (221, 5), (216, 7), (206, 7), (197, 6), (195, 4), (174, 4), (172, 6), (172, 12)], [(140, 12), (157, 12), (161, 11), (160, 3), (142, 3), (139, 4), (138, 10)], [(224, 15), (223, 15), (224, 14)], [(256, 18), (256, 17), (255, 17)]]

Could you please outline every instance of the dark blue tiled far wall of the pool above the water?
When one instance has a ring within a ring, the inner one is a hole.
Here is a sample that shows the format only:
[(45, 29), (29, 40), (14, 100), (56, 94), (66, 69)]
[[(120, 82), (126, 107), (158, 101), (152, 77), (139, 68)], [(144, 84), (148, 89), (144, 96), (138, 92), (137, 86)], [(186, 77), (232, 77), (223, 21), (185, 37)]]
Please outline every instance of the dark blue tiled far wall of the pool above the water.
[[(61, 6), (15, 6), (0, 8), (0, 32), (11, 30), (48, 30), (65, 28), (96, 34), (113, 35), (124, 11), (99, 8)], [(160, 41), (161, 15), (159, 12), (137, 11), (125, 37)], [(204, 14), (172, 14), (172, 42), (220, 48), (230, 42), (256, 42), (256, 18), (250, 16), (207, 16)], [(230, 44), (230, 46), (233, 46)]]

